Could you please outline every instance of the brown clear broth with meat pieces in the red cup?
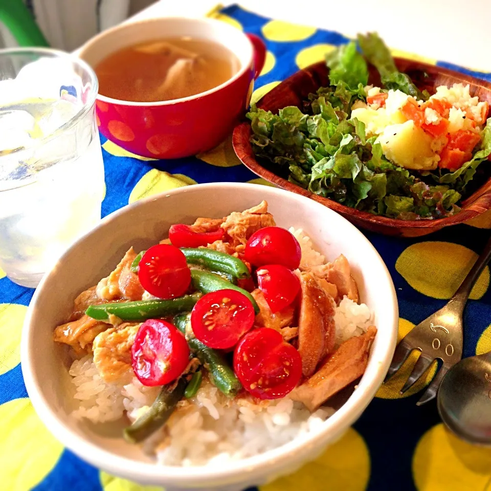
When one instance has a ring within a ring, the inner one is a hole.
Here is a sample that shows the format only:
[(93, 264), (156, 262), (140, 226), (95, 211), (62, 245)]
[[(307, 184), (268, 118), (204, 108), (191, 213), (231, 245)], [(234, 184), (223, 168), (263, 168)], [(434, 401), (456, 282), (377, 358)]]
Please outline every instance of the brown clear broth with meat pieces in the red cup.
[(123, 48), (99, 62), (99, 94), (133, 102), (194, 96), (226, 82), (240, 68), (225, 46), (207, 39), (168, 37)]

